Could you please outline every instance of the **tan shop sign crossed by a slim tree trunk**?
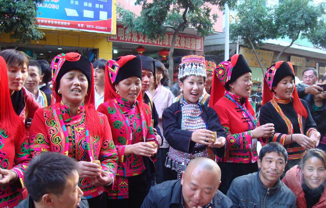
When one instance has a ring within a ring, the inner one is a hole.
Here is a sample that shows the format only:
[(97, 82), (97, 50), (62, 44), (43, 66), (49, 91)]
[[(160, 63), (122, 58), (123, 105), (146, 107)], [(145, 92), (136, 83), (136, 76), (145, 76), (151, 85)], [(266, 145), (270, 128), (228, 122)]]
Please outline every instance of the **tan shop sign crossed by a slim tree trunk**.
[[(256, 50), (256, 52), (264, 68), (268, 68), (272, 65), (272, 59), (274, 55), (273, 51)], [(260, 68), (254, 50), (240, 47), (239, 54), (244, 56), (249, 66)]]

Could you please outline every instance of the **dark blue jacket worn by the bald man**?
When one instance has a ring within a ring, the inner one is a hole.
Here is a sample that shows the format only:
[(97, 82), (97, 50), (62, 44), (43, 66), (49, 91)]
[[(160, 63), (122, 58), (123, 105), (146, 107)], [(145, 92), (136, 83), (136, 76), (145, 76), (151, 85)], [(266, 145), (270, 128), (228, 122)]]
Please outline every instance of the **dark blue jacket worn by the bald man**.
[[(141, 208), (182, 208), (180, 180), (169, 180), (153, 186), (142, 202)], [(231, 208), (232, 201), (221, 191), (212, 199), (211, 208)]]

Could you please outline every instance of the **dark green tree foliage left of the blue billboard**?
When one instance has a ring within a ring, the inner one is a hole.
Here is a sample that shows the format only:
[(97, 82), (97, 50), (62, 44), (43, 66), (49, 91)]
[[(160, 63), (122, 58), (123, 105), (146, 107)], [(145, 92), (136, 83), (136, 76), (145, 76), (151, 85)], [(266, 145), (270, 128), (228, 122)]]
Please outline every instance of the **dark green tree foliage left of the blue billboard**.
[(1, 0), (0, 34), (23, 44), (42, 38), (36, 25), (37, 5), (44, 0)]

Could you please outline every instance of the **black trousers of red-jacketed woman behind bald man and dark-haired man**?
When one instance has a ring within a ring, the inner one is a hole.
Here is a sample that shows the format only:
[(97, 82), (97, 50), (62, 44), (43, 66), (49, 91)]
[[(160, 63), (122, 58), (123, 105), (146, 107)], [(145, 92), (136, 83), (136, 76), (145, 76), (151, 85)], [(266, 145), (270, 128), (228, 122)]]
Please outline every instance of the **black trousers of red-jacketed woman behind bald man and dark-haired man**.
[(255, 163), (233, 163), (233, 162), (219, 162), (221, 168), (221, 185), (219, 190), (226, 194), (230, 185), (236, 177), (247, 175), (249, 173), (257, 172), (258, 165)]

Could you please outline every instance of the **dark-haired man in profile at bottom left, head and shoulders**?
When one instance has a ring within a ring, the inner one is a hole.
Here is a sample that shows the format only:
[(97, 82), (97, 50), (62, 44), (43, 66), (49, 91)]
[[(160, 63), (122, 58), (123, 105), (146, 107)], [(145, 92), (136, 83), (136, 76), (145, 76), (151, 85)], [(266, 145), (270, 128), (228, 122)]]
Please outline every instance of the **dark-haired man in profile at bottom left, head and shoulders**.
[(44, 152), (36, 156), (24, 180), (29, 196), (16, 206), (18, 208), (89, 207), (78, 187), (77, 162), (64, 154)]

